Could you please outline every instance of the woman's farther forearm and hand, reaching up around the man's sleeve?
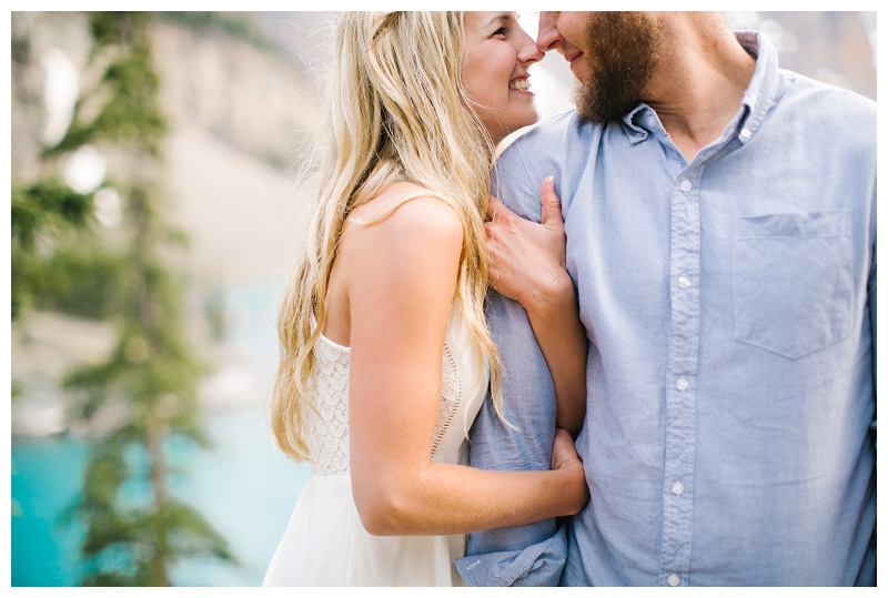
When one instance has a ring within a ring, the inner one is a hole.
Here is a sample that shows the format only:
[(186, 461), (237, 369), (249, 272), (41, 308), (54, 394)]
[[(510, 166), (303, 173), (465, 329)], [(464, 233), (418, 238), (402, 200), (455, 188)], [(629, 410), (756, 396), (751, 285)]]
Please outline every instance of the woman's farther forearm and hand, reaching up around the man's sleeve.
[(588, 344), (571, 275), (565, 267), (561, 201), (552, 176), (539, 190), (539, 224), (512, 213), (491, 197), (487, 249), (491, 282), (527, 311), (534, 336), (548, 365), (558, 402), (556, 425), (576, 437), (586, 416)]

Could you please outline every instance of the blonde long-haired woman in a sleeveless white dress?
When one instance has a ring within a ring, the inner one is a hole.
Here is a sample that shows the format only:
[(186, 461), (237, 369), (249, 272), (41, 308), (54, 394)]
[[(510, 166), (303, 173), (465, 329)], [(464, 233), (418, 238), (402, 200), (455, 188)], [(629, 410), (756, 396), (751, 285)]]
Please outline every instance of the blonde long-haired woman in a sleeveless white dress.
[[(320, 202), (281, 306), (271, 413), (284, 453), (313, 468), (263, 585), (460, 584), (463, 534), (588, 499), (566, 432), (549, 472), (464, 465), (488, 381), (502, 414), (483, 312), (491, 161), (538, 119), (527, 68), (542, 53), (498, 12), (345, 13), (334, 50)], [(582, 330), (576, 311), (569, 293), (535, 323), (574, 434), (585, 337), (549, 332)]]

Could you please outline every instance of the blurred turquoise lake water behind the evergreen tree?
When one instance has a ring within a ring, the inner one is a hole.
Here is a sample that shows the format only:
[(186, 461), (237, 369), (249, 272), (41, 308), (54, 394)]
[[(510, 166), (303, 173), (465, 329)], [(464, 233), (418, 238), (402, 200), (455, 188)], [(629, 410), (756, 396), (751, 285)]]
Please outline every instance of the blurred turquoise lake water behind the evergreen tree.
[[(230, 290), (231, 342), (258, 376), (270, 375), (275, 356), (275, 288)], [(195, 507), (229, 541), (236, 565), (189, 559), (171, 569), (178, 586), (258, 586), (283, 534), (310, 468), (287, 460), (269, 437), (260, 402), (212, 411), (205, 430), (214, 446), (202, 449), (172, 440), (168, 447), (176, 473), (172, 493)], [(12, 443), (12, 586), (77, 586), (78, 549), (83, 528), (63, 523), (77, 500), (87, 445), (75, 438)], [(138, 455), (134, 455), (138, 457)], [(147, 485), (124, 488), (130, 501), (149, 496)]]

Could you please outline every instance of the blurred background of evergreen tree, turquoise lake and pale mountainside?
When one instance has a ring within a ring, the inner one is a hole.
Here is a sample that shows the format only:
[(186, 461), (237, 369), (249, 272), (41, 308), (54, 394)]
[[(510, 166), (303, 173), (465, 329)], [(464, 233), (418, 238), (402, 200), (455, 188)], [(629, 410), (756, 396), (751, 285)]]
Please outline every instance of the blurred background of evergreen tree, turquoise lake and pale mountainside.
[[(876, 100), (875, 12), (726, 16)], [(334, 19), (11, 13), (13, 586), (261, 582), (309, 474), (263, 402)]]

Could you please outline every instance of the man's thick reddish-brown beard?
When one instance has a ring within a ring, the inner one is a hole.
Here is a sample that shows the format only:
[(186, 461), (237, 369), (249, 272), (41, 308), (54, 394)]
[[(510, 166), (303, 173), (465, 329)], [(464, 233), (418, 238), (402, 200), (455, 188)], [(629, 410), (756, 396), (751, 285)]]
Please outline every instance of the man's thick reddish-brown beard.
[(587, 36), (592, 73), (574, 92), (577, 112), (594, 122), (623, 118), (642, 101), (657, 63), (657, 23), (644, 12), (599, 12)]

